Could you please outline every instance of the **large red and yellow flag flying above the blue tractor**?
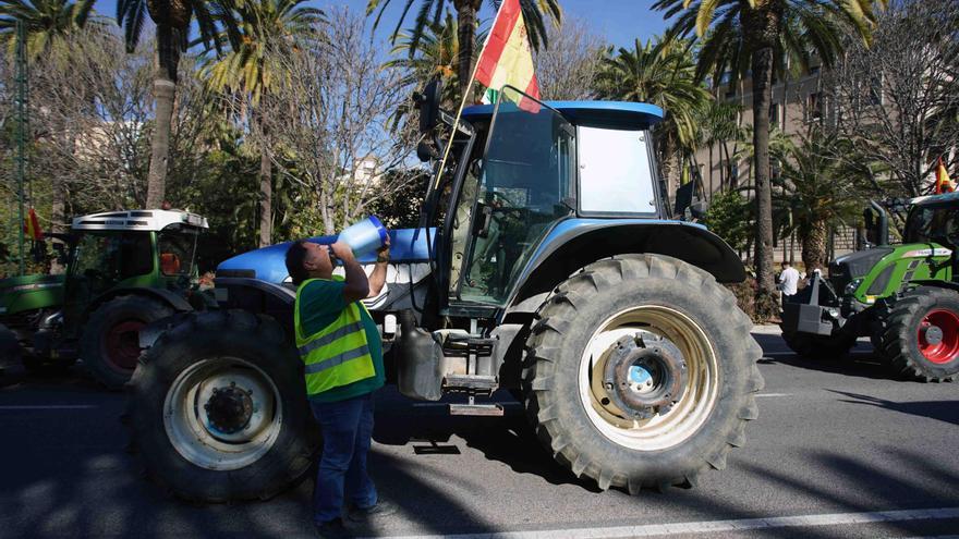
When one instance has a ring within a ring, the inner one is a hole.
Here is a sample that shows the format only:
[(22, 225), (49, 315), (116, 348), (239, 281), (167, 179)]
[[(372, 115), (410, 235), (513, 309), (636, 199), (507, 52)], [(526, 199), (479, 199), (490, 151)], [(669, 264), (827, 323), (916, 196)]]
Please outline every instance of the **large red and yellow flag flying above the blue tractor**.
[(533, 72), (533, 49), (520, 0), (503, 0), (499, 7), (480, 53), (475, 78), (487, 88), (483, 102), (495, 102), (497, 93), (506, 85), (539, 99), (539, 83)]

